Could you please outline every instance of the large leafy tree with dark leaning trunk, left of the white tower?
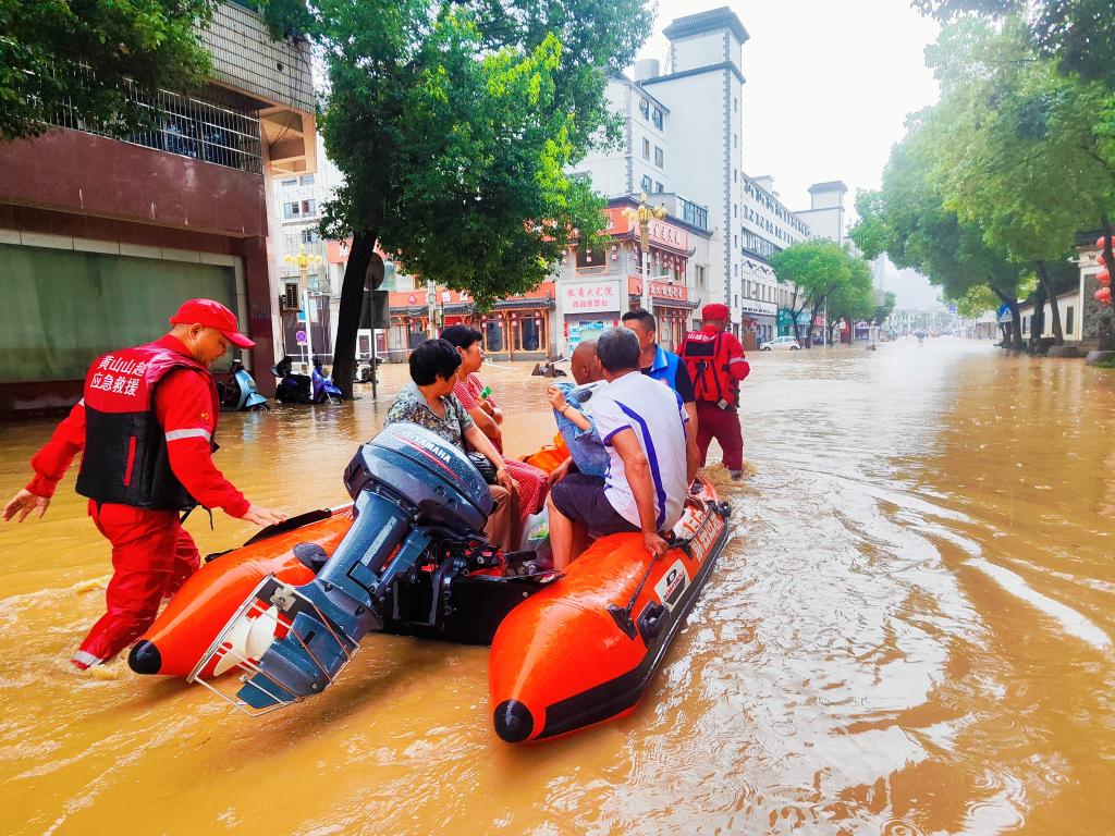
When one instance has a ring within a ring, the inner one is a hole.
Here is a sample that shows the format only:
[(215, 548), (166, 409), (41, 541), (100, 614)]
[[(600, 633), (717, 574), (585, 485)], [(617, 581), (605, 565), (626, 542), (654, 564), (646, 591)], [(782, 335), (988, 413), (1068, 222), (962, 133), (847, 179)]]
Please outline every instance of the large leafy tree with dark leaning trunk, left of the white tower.
[(270, 11), (310, 35), (328, 75), (319, 124), (345, 185), (323, 229), (352, 236), (339, 385), (352, 379), (377, 241), (484, 308), (536, 286), (571, 242), (591, 245), (603, 229), (603, 201), (565, 172), (617, 136), (605, 74), (649, 31), (641, 0), (284, 0)]

